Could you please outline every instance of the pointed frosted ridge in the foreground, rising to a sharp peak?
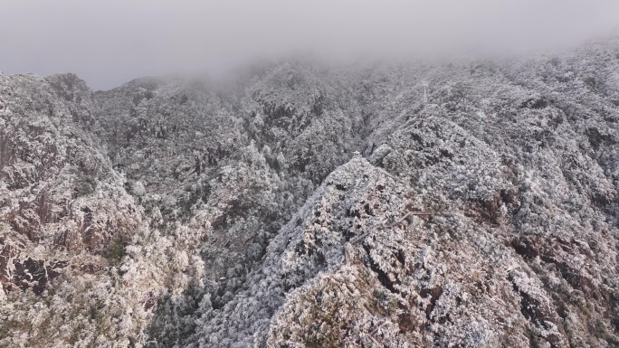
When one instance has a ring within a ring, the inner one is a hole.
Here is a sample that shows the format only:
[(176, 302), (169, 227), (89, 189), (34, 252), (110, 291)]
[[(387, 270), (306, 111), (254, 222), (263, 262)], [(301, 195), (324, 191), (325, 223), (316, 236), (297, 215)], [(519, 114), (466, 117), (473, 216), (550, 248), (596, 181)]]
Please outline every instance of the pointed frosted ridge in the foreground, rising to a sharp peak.
[(436, 209), (437, 199), (351, 160), (275, 237), (230, 302), (201, 301), (201, 330), (187, 343), (562, 347), (586, 336), (586, 317), (562, 320), (569, 309), (557, 307), (538, 265), (475, 217)]

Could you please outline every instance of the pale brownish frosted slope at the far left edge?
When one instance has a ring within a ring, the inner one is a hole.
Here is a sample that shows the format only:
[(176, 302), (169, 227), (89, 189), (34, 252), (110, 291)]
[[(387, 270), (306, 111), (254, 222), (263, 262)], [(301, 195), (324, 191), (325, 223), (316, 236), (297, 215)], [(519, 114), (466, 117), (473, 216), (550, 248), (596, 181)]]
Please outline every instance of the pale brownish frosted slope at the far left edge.
[(92, 93), (74, 75), (0, 79), (0, 345), (112, 340), (141, 306), (114, 266), (145, 226), (90, 132)]

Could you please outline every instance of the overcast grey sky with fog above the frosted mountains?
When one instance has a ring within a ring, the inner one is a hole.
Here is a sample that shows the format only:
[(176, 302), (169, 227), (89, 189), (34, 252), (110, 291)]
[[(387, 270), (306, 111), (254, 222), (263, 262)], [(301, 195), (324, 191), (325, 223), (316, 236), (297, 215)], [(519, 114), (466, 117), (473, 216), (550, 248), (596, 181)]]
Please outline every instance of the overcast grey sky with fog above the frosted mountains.
[(217, 75), (289, 52), (524, 52), (618, 26), (619, 0), (0, 0), (0, 71), (71, 71), (110, 89), (176, 71)]

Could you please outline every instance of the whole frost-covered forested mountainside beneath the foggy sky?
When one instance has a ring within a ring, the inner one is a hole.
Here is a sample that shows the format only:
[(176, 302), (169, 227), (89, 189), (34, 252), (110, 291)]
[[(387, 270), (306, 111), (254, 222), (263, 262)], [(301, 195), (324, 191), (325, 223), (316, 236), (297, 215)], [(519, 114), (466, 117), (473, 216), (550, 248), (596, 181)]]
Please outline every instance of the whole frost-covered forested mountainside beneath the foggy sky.
[(0, 75), (0, 345), (618, 346), (617, 71)]

